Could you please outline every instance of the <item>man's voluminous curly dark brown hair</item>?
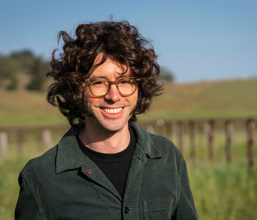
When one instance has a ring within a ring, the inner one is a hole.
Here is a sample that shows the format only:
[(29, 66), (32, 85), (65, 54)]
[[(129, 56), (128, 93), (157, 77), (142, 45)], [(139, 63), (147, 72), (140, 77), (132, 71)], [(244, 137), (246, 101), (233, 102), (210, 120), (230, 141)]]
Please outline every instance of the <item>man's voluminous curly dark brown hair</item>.
[[(130, 69), (134, 77), (142, 78), (138, 86), (137, 105), (130, 118), (130, 123), (135, 123), (136, 114), (146, 112), (153, 97), (162, 93), (162, 83), (157, 81), (160, 66), (151, 41), (142, 37), (138, 29), (127, 21), (81, 24), (75, 34), (74, 38), (64, 31), (58, 34), (58, 44), (61, 37), (64, 41), (63, 53), (57, 58), (57, 49), (53, 50), (51, 70), (45, 73), (55, 80), (48, 88), (47, 101), (59, 107), (74, 131), (79, 132), (85, 123), (84, 86), (81, 81), (89, 78), (97, 66), (111, 58), (124, 64), (125, 72)], [(102, 60), (94, 65), (100, 53)]]

